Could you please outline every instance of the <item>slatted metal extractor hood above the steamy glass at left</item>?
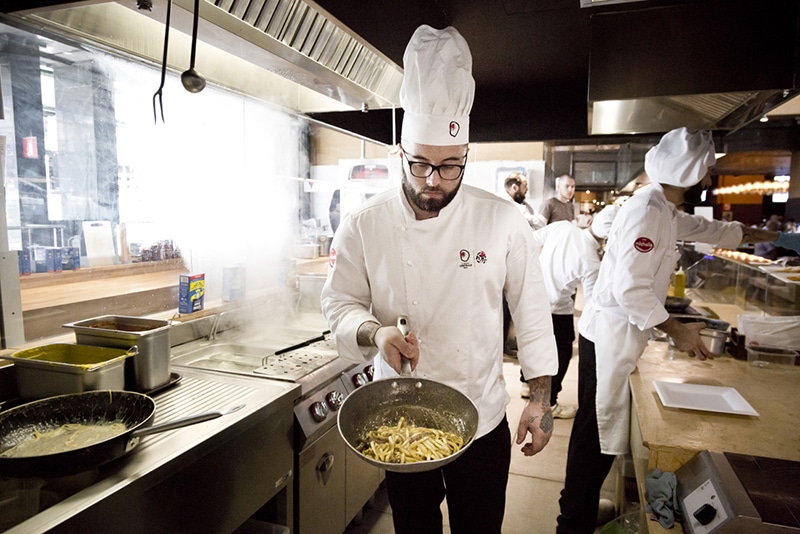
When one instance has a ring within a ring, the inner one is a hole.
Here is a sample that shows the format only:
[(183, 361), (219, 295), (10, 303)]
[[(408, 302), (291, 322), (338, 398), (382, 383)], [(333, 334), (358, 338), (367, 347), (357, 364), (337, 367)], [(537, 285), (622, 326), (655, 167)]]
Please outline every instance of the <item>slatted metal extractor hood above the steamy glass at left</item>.
[[(172, 2), (170, 27), (190, 34), (194, 2)], [(139, 9), (137, 3), (143, 4), (137, 0), (91, 0), (24, 10), (12, 16), (160, 63), (167, 2), (153, 1), (152, 10)], [(348, 109), (391, 108), (399, 102), (402, 69), (311, 2), (203, 0), (199, 16), (200, 45), (213, 48), (213, 53), (198, 52), (198, 70), (210, 81), (252, 94), (237, 83), (263, 82), (241, 79), (252, 75), (243, 74), (246, 71), (242, 69), (231, 73), (229, 65), (220, 64), (244, 61)], [(180, 46), (185, 41), (175, 43)], [(171, 59), (175, 57), (172, 50), (170, 54)], [(178, 71), (185, 68), (170, 63)], [(214, 72), (220, 79), (214, 79)], [(308, 111), (302, 104), (292, 107)]]

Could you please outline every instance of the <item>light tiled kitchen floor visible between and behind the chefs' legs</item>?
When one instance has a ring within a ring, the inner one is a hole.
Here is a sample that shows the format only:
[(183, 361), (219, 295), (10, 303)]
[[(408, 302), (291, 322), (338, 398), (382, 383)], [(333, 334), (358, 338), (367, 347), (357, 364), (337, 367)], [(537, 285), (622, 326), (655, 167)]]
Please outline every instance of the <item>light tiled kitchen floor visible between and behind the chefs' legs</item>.
[[(577, 345), (577, 343), (576, 343)], [(577, 350), (576, 350), (577, 352)], [(505, 358), (504, 369), (511, 404), (507, 414), (509, 426), (513, 429), (519, 421), (525, 399), (519, 395), (519, 363)], [(578, 358), (574, 356), (563, 382), (559, 395), (562, 404), (577, 405), (578, 399)], [(503, 532), (508, 534), (538, 534), (555, 532), (558, 516), (558, 498), (564, 485), (564, 470), (567, 459), (567, 445), (572, 430), (572, 420), (555, 420), (555, 430), (547, 447), (532, 457), (525, 457), (521, 445), (513, 445), (510, 477), (506, 498), (506, 514)], [(513, 438), (512, 438), (513, 439)], [(603, 489), (602, 497), (613, 499), (613, 484), (609, 479)], [(443, 510), (446, 504), (443, 505)], [(345, 534), (390, 534), (392, 528), (391, 508), (386, 491), (378, 489), (375, 502), (364, 508), (363, 518), (354, 520)], [(444, 532), (447, 527), (447, 513), (444, 515)]]

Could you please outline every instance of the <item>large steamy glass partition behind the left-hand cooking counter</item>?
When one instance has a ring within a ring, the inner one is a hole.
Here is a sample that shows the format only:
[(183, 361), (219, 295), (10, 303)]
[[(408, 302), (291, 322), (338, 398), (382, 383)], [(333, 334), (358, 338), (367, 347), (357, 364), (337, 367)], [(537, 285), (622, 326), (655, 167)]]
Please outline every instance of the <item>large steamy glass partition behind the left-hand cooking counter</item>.
[(176, 311), (181, 273), (205, 274), (206, 303), (231, 298), (224, 273), (236, 299), (287, 286), (310, 216), (302, 117), (213, 85), (190, 94), (168, 72), (162, 122), (158, 68), (7, 25), (0, 36), (27, 341), (90, 316)]

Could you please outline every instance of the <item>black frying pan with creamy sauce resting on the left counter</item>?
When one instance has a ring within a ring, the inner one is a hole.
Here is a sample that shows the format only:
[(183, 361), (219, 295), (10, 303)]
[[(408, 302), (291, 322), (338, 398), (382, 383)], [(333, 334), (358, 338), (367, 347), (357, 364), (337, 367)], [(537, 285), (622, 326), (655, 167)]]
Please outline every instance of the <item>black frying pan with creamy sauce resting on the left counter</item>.
[(126, 455), (143, 436), (215, 419), (242, 406), (152, 425), (155, 401), (132, 391), (87, 391), (29, 402), (0, 413), (0, 454), (32, 439), (34, 431), (44, 433), (69, 423), (122, 422), (126, 429), (104, 441), (77, 449), (39, 456), (0, 456), (0, 476), (52, 477), (78, 473)]

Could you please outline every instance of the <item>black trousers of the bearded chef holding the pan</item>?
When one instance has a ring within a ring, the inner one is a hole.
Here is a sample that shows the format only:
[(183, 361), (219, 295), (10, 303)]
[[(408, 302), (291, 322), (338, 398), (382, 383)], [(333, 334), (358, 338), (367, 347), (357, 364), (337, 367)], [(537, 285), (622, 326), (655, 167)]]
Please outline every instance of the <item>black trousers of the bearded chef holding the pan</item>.
[(386, 472), (396, 534), (440, 534), (447, 496), (450, 532), (500, 534), (506, 506), (511, 432), (504, 417), (494, 430), (441, 469)]

